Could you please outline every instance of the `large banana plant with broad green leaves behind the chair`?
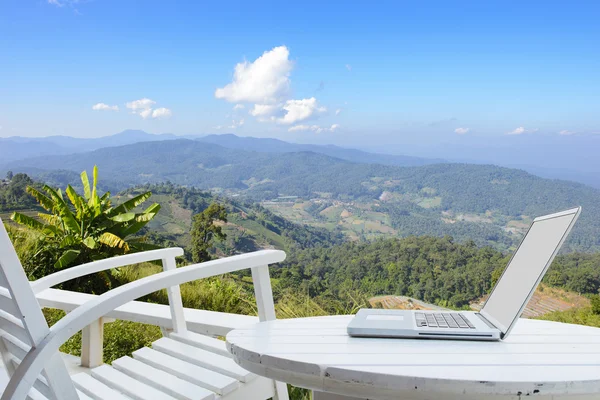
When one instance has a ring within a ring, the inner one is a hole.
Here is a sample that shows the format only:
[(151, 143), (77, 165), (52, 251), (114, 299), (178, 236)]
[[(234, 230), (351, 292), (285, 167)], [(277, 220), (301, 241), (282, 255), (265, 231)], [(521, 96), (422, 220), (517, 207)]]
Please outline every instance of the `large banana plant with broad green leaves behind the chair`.
[[(160, 210), (160, 205), (155, 203), (141, 213), (132, 211), (148, 200), (152, 193), (139, 194), (113, 207), (110, 192), (102, 196), (98, 194), (97, 182), (98, 168), (94, 167), (91, 187), (87, 172), (81, 173), (83, 196), (71, 185), (65, 190), (66, 196), (62, 190), (48, 185), (42, 188), (45, 193), (33, 186), (27, 186), (27, 193), (47, 211), (38, 213), (38, 218), (19, 212), (11, 216), (13, 221), (39, 235), (39, 249), (27, 260), (35, 264), (30, 269), (30, 278), (40, 278), (73, 265), (157, 248), (145, 243), (144, 237), (132, 237)], [(69, 282), (65, 288), (85, 289), (97, 293), (110, 289), (113, 283), (114, 279), (110, 273), (102, 273), (94, 278), (85, 277)]]

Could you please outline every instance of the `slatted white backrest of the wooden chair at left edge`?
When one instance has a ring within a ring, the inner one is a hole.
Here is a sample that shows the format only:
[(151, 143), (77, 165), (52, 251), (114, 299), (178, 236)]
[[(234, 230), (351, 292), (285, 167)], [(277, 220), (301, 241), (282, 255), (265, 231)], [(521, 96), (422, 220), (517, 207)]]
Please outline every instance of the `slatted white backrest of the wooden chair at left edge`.
[[(0, 353), (9, 377), (27, 353), (49, 333), (48, 323), (0, 219)], [(77, 398), (58, 352), (46, 364), (33, 387), (38, 392), (36, 398), (41, 394), (47, 399), (62, 400), (65, 393), (67, 398)]]

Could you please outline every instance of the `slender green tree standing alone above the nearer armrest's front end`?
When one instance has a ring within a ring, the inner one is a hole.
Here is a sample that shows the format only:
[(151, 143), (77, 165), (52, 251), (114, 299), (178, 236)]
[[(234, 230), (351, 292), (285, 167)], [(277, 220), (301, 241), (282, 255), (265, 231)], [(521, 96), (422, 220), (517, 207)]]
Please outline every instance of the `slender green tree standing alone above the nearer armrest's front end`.
[(227, 222), (227, 210), (218, 203), (212, 203), (204, 211), (194, 216), (190, 231), (192, 261), (198, 263), (210, 260), (211, 256), (208, 250), (213, 246), (214, 240), (227, 238), (222, 227), (215, 223), (216, 221)]

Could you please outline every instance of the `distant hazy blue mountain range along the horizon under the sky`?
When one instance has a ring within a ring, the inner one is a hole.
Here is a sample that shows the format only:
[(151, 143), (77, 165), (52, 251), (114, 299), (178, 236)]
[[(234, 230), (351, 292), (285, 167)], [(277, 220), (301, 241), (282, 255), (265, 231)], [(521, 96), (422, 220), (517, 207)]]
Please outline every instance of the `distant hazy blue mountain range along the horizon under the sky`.
[(171, 133), (156, 135), (141, 130), (126, 130), (112, 136), (88, 139), (69, 136), (0, 138), (0, 166), (41, 155), (81, 153), (104, 147), (176, 139), (198, 140), (227, 148), (257, 152), (311, 151), (343, 160), (384, 165), (418, 166), (440, 162), (495, 164), (523, 169), (544, 178), (572, 180), (600, 188), (600, 158), (596, 155), (596, 149), (600, 146), (600, 135), (455, 137), (427, 146), (383, 146), (372, 143), (366, 146), (371, 149), (367, 151), (362, 147), (362, 150), (357, 150), (328, 144), (299, 144), (233, 134), (178, 136)]

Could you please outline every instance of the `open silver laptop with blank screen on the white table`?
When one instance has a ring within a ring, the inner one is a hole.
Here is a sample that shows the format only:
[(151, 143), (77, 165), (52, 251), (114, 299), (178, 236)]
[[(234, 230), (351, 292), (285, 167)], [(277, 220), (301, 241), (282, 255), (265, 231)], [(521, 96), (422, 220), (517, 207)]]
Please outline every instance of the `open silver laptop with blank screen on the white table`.
[(348, 334), (414, 339), (506, 338), (580, 213), (578, 207), (533, 220), (481, 311), (361, 309), (348, 325)]

